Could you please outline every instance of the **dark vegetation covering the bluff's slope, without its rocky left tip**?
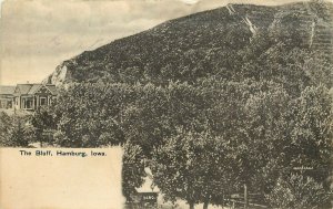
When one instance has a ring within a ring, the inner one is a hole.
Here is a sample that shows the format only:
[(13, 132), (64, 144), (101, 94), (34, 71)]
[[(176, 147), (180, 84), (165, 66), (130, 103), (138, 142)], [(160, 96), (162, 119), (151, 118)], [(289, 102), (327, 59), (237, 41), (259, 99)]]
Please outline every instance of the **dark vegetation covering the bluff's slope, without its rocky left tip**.
[[(168, 86), (170, 81), (194, 84), (200, 79), (218, 76), (229, 81), (276, 80), (295, 93), (300, 93), (307, 80), (319, 82), (317, 76), (326, 75), (326, 83), (332, 83), (330, 72), (316, 71), (319, 67), (332, 71), (332, 63), (327, 63), (331, 54), (321, 52), (325, 51), (323, 48), (330, 49), (331, 43), (310, 49), (309, 41), (312, 21), (330, 13), (329, 6), (312, 2), (233, 7), (234, 15), (225, 8), (218, 8), (171, 20), (83, 52), (63, 65), (71, 74), (70, 81), (79, 83), (140, 82)], [(244, 23), (245, 17), (258, 28), (255, 35)], [(322, 25), (315, 30), (325, 34), (331, 20), (321, 21)], [(314, 39), (321, 43), (320, 35)], [(319, 60), (323, 64), (317, 64)]]

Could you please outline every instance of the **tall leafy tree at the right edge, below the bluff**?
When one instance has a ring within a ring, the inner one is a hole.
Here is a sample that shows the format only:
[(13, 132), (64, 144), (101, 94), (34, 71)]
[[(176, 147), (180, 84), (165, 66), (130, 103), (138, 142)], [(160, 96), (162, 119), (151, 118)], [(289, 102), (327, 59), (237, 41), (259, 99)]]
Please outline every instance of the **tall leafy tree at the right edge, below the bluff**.
[(329, 90), (323, 85), (304, 88), (290, 105), (286, 119), (290, 122), (290, 144), (286, 147), (290, 165), (312, 167), (314, 170), (306, 175), (323, 181), (332, 166), (333, 151), (332, 95)]

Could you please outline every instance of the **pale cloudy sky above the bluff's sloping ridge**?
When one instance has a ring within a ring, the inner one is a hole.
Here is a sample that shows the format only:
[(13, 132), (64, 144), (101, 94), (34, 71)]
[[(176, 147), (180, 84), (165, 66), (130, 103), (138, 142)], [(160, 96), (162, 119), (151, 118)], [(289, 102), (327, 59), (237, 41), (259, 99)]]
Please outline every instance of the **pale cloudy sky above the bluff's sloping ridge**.
[(226, 3), (293, 1), (0, 0), (0, 85), (39, 83), (62, 61), (170, 19)]

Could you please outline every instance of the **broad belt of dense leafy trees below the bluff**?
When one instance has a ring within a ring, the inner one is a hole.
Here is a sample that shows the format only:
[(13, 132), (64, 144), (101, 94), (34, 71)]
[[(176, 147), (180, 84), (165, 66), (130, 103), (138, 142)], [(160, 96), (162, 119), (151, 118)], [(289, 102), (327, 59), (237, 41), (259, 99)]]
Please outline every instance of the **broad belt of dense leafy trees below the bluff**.
[(252, 192), (271, 191), (295, 166), (324, 169), (312, 175), (317, 180), (327, 177), (327, 92), (321, 84), (294, 94), (274, 81), (216, 77), (194, 85), (74, 84), (54, 107), (56, 137), (61, 146), (125, 143), (139, 166), (123, 165), (127, 197), (142, 184), (145, 158), (153, 159), (154, 182), (170, 200), (219, 205), (243, 184)]

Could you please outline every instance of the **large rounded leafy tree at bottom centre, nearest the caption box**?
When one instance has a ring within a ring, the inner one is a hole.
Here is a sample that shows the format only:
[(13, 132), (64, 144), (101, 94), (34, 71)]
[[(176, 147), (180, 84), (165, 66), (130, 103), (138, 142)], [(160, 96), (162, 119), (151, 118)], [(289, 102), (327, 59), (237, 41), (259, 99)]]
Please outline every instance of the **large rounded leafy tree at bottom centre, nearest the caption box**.
[(209, 132), (180, 128), (179, 134), (153, 155), (154, 184), (168, 200), (184, 199), (190, 209), (203, 202), (206, 209), (230, 189), (226, 147), (226, 142), (212, 137)]

